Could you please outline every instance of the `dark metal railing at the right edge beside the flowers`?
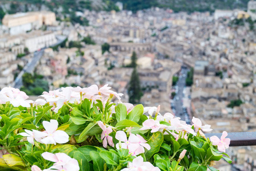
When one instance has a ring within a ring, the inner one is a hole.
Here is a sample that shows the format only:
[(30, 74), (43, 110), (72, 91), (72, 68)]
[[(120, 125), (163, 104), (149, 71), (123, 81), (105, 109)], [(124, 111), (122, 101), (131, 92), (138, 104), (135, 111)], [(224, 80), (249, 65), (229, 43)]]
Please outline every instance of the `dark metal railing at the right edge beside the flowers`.
[[(206, 133), (206, 137), (222, 136), (222, 133)], [(230, 146), (250, 146), (256, 145), (256, 132), (229, 132), (227, 138), (230, 138)]]

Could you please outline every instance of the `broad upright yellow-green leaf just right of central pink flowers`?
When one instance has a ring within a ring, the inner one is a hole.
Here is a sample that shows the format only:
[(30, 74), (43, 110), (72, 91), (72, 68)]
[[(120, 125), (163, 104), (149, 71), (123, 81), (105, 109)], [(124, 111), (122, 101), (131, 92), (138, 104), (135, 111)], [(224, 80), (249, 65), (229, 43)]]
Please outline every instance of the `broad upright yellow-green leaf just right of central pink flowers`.
[(145, 156), (147, 160), (153, 156), (153, 154), (159, 152), (159, 149), (164, 141), (162, 132), (154, 132), (151, 138), (148, 140), (148, 144), (151, 146), (150, 150), (146, 150)]

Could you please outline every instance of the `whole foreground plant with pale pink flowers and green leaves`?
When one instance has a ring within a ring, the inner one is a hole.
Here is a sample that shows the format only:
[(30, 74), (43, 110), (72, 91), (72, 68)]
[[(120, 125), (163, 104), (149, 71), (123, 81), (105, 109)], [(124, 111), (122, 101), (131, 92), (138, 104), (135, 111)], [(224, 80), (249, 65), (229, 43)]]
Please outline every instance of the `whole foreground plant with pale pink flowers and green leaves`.
[[(32, 101), (19, 89), (3, 88), (0, 168), (207, 170), (221, 158), (231, 161), (223, 157), (230, 144), (227, 132), (220, 139), (208, 139), (203, 132), (212, 131), (211, 125), (203, 125), (200, 119), (193, 117), (192, 124), (188, 124), (172, 113), (162, 115), (160, 105), (122, 103), (122, 95), (107, 84), (101, 88), (60, 88), (44, 92), (44, 99)], [(113, 97), (116, 103), (112, 102)]]

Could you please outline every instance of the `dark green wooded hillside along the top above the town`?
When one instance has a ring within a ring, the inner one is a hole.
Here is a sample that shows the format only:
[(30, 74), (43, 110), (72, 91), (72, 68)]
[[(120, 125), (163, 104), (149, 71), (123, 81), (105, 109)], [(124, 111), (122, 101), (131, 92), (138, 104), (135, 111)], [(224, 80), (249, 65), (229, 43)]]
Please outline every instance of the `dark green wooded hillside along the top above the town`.
[[(17, 13), (30, 10), (40, 10), (46, 7), (56, 13), (61, 9), (63, 14), (72, 13), (72, 11), (89, 10), (118, 10), (116, 2), (123, 2), (125, 10), (148, 9), (150, 7), (164, 7), (175, 12), (186, 11), (210, 11), (215, 9), (247, 9), (249, 0), (5, 0), (1, 1), (1, 11), (5, 13)], [(3, 9), (3, 10), (1, 10)], [(0, 16), (1, 17), (1, 16)]]

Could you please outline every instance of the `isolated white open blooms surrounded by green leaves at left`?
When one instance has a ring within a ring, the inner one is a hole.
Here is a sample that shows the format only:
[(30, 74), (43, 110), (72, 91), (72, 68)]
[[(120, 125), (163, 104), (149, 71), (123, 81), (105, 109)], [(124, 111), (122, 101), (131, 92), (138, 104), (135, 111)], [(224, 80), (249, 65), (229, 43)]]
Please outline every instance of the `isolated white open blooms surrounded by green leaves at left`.
[(34, 140), (38, 141), (42, 144), (64, 144), (69, 141), (69, 136), (65, 131), (57, 130), (58, 128), (58, 121), (57, 120), (50, 120), (43, 121), (42, 124), (44, 125), (45, 131), (37, 131), (32, 130), (29, 131), (25, 129), (25, 132), (19, 133), (19, 135), (27, 137), (27, 141), (34, 145)]

